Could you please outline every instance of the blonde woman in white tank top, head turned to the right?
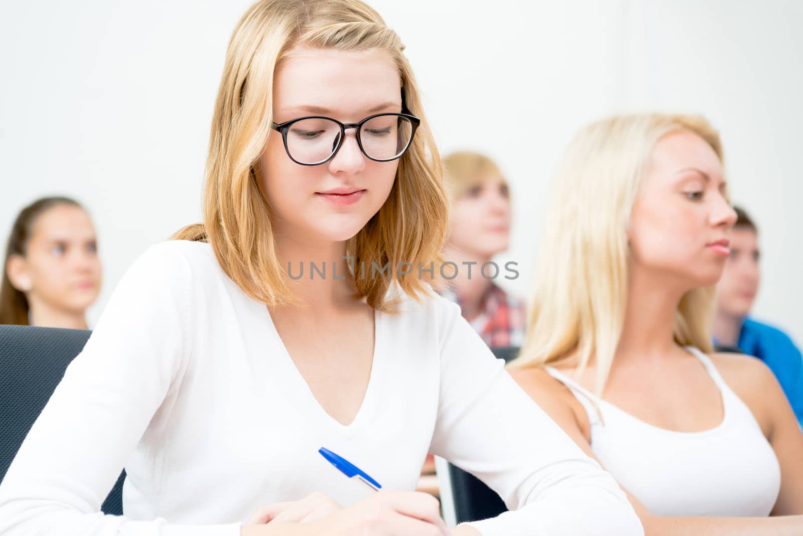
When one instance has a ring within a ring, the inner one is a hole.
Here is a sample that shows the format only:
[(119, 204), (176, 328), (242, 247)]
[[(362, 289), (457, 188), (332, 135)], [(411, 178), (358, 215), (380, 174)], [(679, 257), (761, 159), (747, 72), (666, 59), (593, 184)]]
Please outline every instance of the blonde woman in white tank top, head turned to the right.
[(699, 116), (591, 124), (557, 174), (513, 376), (630, 493), (646, 534), (803, 534), (789, 403), (763, 363), (711, 349), (735, 220)]

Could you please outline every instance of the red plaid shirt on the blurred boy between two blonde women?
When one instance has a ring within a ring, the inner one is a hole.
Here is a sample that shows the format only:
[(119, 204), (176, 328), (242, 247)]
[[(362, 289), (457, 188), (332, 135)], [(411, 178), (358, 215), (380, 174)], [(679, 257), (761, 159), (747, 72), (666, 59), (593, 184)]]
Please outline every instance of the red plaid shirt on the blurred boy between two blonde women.
[[(446, 289), (443, 296), (463, 310), (463, 303), (454, 289)], [(494, 284), (483, 297), (482, 312), (469, 323), (489, 347), (520, 347), (524, 343), (524, 303)]]

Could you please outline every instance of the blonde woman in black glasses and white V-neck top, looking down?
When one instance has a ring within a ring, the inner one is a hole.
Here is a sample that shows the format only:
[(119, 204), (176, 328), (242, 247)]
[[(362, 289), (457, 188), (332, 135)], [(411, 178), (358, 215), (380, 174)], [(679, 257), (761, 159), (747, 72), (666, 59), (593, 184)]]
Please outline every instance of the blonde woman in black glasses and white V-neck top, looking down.
[[(0, 485), (0, 533), (642, 534), (613, 479), (427, 291), (438, 158), (374, 10), (252, 6), (218, 92), (204, 224), (117, 286)], [(447, 529), (411, 491), (430, 449), (516, 511)], [(104, 516), (123, 465), (125, 515)]]

